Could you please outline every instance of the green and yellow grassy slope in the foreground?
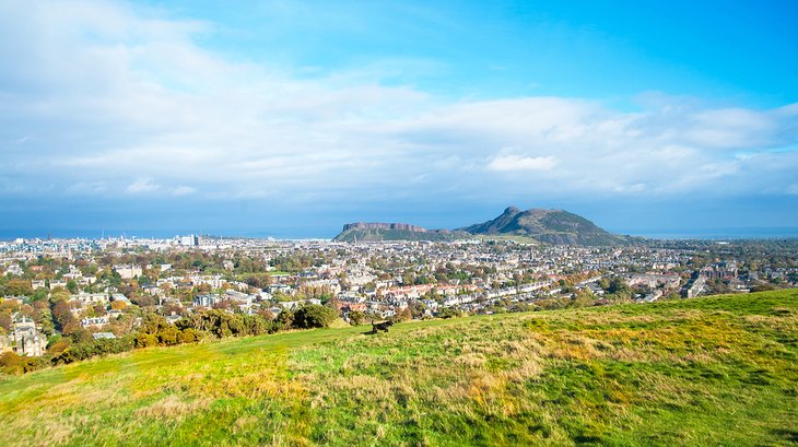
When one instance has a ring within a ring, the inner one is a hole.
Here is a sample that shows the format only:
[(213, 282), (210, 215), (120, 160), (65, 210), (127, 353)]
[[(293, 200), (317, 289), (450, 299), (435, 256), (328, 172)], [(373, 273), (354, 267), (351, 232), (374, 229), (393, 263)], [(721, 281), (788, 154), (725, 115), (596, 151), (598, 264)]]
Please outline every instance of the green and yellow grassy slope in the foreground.
[(795, 445), (798, 291), (281, 333), (0, 377), (0, 445)]

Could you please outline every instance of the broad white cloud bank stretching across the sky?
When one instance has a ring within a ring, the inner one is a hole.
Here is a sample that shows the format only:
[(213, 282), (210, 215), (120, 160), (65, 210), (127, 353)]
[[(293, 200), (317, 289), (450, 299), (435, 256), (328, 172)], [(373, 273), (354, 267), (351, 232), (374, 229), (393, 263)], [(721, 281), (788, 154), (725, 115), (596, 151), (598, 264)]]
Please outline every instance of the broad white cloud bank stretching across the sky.
[(15, 43), (0, 46), (14, 61), (0, 70), (0, 141), (26, 139), (2, 148), (15, 191), (47, 176), (66, 193), (163, 200), (465, 197), (486, 183), (504, 196), (679, 196), (758, 192), (798, 172), (783, 150), (798, 140), (798, 105), (451, 101), (380, 85), (380, 70), (404, 63), (325, 78), (233, 61), (196, 43), (212, 24), (157, 14), (112, 1), (0, 3), (0, 42)]

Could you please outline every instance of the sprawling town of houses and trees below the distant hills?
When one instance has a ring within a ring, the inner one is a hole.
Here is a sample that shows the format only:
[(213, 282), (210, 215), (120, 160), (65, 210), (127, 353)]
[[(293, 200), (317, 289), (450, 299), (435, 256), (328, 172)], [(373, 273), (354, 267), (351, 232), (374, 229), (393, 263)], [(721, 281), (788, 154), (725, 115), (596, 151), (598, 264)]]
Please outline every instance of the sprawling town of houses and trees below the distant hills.
[(188, 338), (195, 341), (203, 313), (243, 318), (228, 326), (247, 317), (290, 326), (287, 315), (313, 305), (362, 324), (795, 287), (796, 252), (795, 239), (612, 247), (196, 235), (15, 239), (0, 243), (0, 353), (57, 363), (81, 343), (127, 337), (146, 345), (132, 338), (142, 325), (155, 325), (148, 334), (161, 344), (171, 344), (165, 325), (197, 329)]

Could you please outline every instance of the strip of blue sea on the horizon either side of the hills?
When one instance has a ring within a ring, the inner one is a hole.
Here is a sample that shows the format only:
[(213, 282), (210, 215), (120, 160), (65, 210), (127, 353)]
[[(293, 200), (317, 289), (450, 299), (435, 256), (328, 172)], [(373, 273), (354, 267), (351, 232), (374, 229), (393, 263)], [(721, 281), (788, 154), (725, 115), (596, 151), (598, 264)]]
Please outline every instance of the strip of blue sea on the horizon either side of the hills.
[[(778, 239), (798, 238), (798, 227), (740, 227), (740, 228), (608, 228), (615, 234), (642, 236), (652, 239)], [(337, 230), (329, 228), (278, 228), (278, 230), (83, 230), (83, 228), (0, 228), (0, 240), (13, 240), (17, 237), (25, 239), (52, 238), (86, 238), (97, 239), (103, 236), (125, 236), (127, 238), (160, 238), (168, 239), (175, 236), (189, 234), (213, 235), (227, 237), (249, 237), (275, 239), (331, 239), (338, 234)]]

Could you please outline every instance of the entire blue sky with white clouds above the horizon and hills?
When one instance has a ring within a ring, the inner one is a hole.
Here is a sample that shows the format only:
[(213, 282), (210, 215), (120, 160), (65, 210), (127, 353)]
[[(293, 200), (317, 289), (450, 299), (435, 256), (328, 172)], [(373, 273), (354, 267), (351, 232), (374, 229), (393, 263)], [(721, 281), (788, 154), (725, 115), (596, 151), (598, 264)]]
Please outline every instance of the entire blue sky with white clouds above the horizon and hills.
[(0, 0), (0, 237), (511, 204), (798, 235), (797, 22), (791, 0)]

